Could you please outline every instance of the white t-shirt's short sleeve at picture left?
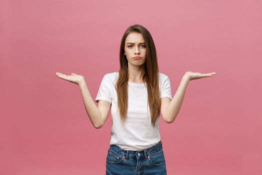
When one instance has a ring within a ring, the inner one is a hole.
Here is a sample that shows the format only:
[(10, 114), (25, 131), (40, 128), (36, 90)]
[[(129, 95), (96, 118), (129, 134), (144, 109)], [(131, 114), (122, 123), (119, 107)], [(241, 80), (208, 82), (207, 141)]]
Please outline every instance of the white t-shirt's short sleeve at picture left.
[(111, 87), (111, 84), (110, 84), (109, 74), (105, 74), (100, 83), (95, 101), (98, 102), (100, 99), (103, 99), (105, 101), (112, 103), (110, 87)]

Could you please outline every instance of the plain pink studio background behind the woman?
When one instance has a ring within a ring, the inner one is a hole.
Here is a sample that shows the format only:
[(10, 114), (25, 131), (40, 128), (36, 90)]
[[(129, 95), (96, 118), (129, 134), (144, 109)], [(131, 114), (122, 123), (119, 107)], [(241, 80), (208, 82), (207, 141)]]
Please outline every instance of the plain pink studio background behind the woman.
[(190, 81), (171, 123), (160, 119), (168, 174), (262, 174), (260, 0), (1, 0), (0, 174), (105, 174), (111, 114), (96, 129), (93, 99), (118, 71), (120, 39), (135, 23), (152, 34), (172, 95)]

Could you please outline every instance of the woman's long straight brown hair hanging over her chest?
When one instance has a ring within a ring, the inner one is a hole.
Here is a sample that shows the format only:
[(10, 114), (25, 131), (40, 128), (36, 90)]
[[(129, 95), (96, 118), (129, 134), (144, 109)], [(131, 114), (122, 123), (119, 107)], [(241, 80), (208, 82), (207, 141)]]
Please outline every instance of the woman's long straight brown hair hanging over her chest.
[(155, 127), (155, 122), (160, 114), (160, 91), (159, 91), (159, 71), (157, 63), (157, 53), (155, 43), (150, 32), (142, 25), (134, 24), (129, 26), (123, 34), (120, 44), (120, 69), (119, 77), (115, 84), (117, 91), (117, 105), (121, 121), (124, 122), (128, 108), (128, 61), (124, 55), (125, 40), (131, 32), (139, 32), (143, 35), (146, 45), (146, 62), (143, 64), (145, 73), (143, 82), (146, 82), (148, 104), (150, 107), (151, 123)]

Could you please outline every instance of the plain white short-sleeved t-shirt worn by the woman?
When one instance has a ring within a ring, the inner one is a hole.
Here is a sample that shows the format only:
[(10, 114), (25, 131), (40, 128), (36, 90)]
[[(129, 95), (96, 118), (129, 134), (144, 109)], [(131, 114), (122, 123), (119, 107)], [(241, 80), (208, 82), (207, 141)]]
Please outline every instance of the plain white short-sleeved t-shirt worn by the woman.
[[(115, 83), (119, 72), (104, 75), (95, 101), (100, 99), (111, 103), (112, 128), (110, 144), (115, 144), (124, 150), (143, 150), (160, 141), (159, 119), (155, 127), (151, 124), (150, 108), (147, 105), (147, 88), (144, 83), (128, 81), (128, 110), (126, 120), (120, 122), (117, 109), (117, 93)], [(172, 99), (169, 77), (159, 72), (160, 98)]]

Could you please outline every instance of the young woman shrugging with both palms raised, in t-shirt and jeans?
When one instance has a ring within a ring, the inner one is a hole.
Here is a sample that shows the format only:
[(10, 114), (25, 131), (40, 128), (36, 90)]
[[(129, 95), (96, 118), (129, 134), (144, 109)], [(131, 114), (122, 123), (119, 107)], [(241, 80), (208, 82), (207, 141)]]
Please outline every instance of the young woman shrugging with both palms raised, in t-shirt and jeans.
[(106, 174), (167, 174), (159, 133), (160, 114), (172, 123), (192, 79), (216, 72), (188, 71), (172, 98), (169, 77), (158, 71), (157, 53), (150, 32), (142, 25), (129, 26), (121, 40), (120, 69), (104, 75), (95, 101), (84, 77), (75, 73), (60, 78), (79, 85), (87, 114), (94, 127), (106, 122), (111, 107), (111, 140)]

